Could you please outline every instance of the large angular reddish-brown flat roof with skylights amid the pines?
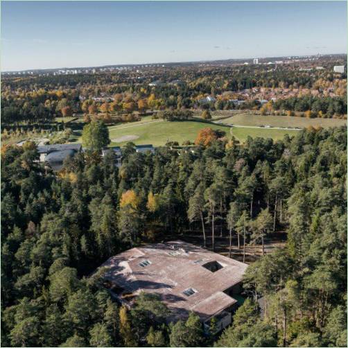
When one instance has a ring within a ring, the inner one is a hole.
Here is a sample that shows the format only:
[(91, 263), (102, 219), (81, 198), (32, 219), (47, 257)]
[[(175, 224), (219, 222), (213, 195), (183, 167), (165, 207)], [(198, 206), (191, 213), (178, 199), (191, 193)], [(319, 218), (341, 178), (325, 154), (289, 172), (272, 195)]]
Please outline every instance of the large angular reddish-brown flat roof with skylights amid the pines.
[[(207, 269), (207, 263), (218, 270)], [(236, 303), (225, 290), (239, 284), (245, 263), (229, 259), (183, 241), (134, 247), (112, 256), (105, 267), (105, 281), (118, 288), (118, 296), (157, 293), (177, 320), (195, 312), (207, 320)], [(111, 288), (112, 288), (111, 286)], [(189, 290), (193, 295), (185, 295)]]

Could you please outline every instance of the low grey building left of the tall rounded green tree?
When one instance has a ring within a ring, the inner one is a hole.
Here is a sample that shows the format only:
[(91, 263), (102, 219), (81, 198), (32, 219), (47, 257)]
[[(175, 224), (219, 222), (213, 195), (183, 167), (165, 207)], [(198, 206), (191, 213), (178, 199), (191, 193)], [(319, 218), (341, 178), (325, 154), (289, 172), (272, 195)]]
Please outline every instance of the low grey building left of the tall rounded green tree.
[(55, 145), (37, 146), (37, 152), (40, 155), (40, 162), (44, 162), (51, 167), (53, 171), (60, 171), (64, 159), (73, 157), (80, 152), (82, 146), (80, 143), (58, 143)]

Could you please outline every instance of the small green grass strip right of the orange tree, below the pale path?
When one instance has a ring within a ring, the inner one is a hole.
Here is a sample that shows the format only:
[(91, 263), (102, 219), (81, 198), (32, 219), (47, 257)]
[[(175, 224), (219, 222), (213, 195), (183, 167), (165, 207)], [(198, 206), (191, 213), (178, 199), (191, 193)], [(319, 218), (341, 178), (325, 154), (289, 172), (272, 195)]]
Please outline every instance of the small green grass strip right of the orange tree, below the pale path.
[(289, 134), (289, 137), (297, 134), (298, 130), (279, 130), (272, 128), (247, 128), (247, 127), (234, 127), (231, 128), (231, 134), (239, 141), (243, 142), (247, 139), (247, 136), (252, 138), (272, 138), (273, 140), (283, 139), (285, 134)]

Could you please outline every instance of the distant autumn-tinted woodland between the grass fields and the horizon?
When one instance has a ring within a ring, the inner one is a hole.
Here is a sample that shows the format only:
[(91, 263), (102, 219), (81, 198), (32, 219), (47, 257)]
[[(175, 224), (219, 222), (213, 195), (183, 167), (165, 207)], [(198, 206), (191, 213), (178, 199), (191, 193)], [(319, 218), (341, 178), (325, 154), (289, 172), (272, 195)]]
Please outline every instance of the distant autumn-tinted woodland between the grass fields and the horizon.
[[(177, 79), (180, 83), (173, 83)], [(305, 112), (313, 109), (313, 112), (331, 117), (347, 113), (346, 79), (345, 74), (335, 76), (332, 72), (321, 70), (309, 73), (300, 71), (297, 66), (270, 69), (261, 65), (172, 67), (148, 73), (131, 70), (66, 76), (5, 76), (1, 85), (1, 116), (3, 123), (43, 123), (52, 121), (55, 116), (82, 112), (107, 114), (200, 108), (258, 110), (261, 107), (258, 101), (243, 96), (245, 89), (257, 87), (279, 89), (275, 110)], [(158, 80), (159, 84), (149, 86), (154, 80)], [(296, 90), (296, 96), (281, 96), (279, 93), (284, 89)], [(319, 96), (302, 97), (302, 89), (307, 89), (307, 92), (313, 90)], [(329, 92), (340, 97), (329, 97)], [(202, 98), (207, 95), (216, 97), (216, 102), (202, 103)], [(236, 98), (245, 99), (245, 103), (236, 106), (231, 101)]]

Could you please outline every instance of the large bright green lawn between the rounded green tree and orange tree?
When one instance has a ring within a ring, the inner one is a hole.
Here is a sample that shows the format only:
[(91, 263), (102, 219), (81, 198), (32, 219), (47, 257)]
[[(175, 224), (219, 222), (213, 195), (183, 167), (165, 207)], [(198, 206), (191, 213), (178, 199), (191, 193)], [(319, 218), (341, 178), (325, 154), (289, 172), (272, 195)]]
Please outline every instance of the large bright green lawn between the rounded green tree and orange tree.
[[(110, 145), (124, 145), (130, 140), (135, 144), (152, 143), (154, 146), (163, 146), (167, 139), (177, 141), (180, 145), (185, 140), (194, 141), (199, 130), (202, 128), (213, 128), (214, 130), (224, 130), (227, 137), (230, 137), (227, 125), (214, 125), (198, 121), (162, 121), (152, 120), (151, 122), (134, 122), (122, 125), (114, 125), (109, 128)], [(137, 138), (136, 138), (137, 137)], [(136, 139), (135, 139), (136, 138)]]

